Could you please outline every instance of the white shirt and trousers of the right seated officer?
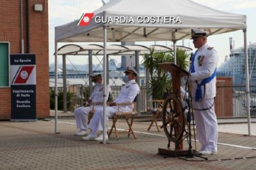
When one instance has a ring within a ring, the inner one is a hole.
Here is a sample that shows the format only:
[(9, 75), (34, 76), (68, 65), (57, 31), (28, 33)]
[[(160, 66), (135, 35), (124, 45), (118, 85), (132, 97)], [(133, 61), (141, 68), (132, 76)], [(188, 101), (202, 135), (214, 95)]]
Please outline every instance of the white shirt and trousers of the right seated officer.
[[(140, 87), (135, 80), (127, 81), (127, 83), (122, 87), (120, 94), (115, 99), (114, 103), (132, 103), (135, 97), (140, 93)], [(133, 106), (124, 106), (120, 108), (121, 111), (132, 111)], [(107, 123), (109, 118), (113, 117), (117, 111), (117, 106), (106, 107), (105, 121), (106, 129), (108, 129)], [(95, 111), (92, 120), (90, 121), (89, 128), (92, 129), (93, 135), (97, 131), (103, 131), (103, 108), (99, 108)]]

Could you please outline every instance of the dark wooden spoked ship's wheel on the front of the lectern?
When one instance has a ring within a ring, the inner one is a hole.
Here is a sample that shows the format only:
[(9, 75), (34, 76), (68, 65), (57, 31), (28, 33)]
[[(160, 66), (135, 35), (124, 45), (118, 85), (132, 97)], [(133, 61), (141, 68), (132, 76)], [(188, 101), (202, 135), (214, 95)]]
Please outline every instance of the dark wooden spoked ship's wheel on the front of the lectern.
[(163, 105), (163, 129), (168, 141), (174, 143), (182, 140), (186, 119), (182, 110), (182, 103), (175, 94), (166, 97)]

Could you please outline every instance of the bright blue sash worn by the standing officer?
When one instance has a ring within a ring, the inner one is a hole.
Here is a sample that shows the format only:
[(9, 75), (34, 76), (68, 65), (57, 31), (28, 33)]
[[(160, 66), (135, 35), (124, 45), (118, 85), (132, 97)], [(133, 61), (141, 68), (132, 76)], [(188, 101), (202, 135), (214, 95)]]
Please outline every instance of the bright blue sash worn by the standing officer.
[[(191, 67), (190, 67), (191, 73), (195, 73), (194, 61), (195, 61), (196, 53), (197, 53), (197, 50), (196, 50), (195, 54), (192, 57), (192, 64), (191, 64)], [(203, 79), (200, 84), (198, 84), (198, 82), (196, 80), (196, 84), (197, 84), (196, 94), (195, 94), (195, 100), (196, 101), (200, 101), (200, 99), (202, 99), (202, 87), (201, 86), (205, 85), (206, 83), (209, 83), (216, 76), (216, 70), (217, 69), (214, 70), (214, 73), (212, 73), (211, 76)]]

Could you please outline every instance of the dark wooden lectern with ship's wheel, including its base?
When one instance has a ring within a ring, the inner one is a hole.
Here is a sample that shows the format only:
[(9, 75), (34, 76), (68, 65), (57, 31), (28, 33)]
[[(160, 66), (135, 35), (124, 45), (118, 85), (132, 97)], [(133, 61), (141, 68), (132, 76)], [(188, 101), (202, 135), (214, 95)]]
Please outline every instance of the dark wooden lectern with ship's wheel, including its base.
[[(180, 80), (183, 76), (189, 76), (189, 73), (170, 62), (160, 63), (159, 67), (172, 74), (172, 94), (166, 97), (163, 104), (163, 129), (169, 141), (168, 148), (158, 148), (158, 154), (168, 155), (170, 157), (186, 155), (188, 150), (183, 150), (182, 143), (186, 116), (180, 101)], [(187, 134), (187, 137), (188, 136), (191, 139), (190, 124), (189, 135)], [(175, 150), (170, 149), (170, 141), (175, 143)]]

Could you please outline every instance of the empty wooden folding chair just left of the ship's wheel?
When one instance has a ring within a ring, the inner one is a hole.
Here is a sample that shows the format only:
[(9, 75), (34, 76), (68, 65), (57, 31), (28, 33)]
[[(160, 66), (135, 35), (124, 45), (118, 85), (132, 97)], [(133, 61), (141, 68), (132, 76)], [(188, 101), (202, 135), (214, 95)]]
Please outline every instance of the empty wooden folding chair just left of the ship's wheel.
[(156, 128), (157, 128), (157, 131), (159, 131), (159, 125), (157, 125), (157, 120), (159, 119), (163, 119), (162, 118), (162, 111), (163, 111), (163, 103), (164, 103), (164, 100), (152, 100), (152, 101), (148, 101), (148, 103), (150, 103), (150, 108), (147, 109), (148, 113), (151, 113), (152, 115), (152, 121), (148, 127), (148, 131), (150, 130), (150, 128), (152, 127), (152, 125), (155, 123), (156, 124)]

